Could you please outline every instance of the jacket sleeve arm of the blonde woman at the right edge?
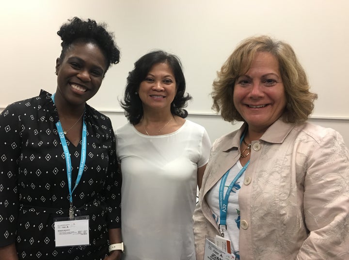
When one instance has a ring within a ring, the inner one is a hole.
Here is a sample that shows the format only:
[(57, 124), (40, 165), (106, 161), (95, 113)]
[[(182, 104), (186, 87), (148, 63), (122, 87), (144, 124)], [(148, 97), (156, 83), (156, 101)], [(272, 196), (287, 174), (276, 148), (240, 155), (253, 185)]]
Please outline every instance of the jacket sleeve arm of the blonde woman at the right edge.
[(303, 208), (310, 233), (296, 259), (349, 259), (349, 151), (333, 130), (311, 147)]

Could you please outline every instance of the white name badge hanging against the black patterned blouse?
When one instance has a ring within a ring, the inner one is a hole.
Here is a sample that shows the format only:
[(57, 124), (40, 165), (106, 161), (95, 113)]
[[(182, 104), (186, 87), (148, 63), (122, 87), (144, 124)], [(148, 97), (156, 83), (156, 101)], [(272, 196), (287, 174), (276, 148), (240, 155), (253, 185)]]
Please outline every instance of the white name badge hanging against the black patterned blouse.
[(54, 221), (56, 247), (90, 245), (89, 216), (70, 220), (68, 217), (60, 217)]

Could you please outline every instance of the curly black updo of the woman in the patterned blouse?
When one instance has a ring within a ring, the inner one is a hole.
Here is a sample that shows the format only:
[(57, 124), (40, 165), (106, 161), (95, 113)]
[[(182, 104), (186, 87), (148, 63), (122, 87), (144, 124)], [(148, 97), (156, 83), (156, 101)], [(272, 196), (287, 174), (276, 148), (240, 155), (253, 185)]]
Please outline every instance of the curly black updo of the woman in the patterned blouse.
[(107, 60), (106, 72), (111, 64), (119, 63), (120, 51), (114, 42), (113, 33), (106, 30), (105, 23), (97, 24), (91, 19), (83, 21), (79, 17), (68, 19), (68, 21), (57, 31), (62, 39), (61, 59), (75, 43), (93, 43), (101, 49)]

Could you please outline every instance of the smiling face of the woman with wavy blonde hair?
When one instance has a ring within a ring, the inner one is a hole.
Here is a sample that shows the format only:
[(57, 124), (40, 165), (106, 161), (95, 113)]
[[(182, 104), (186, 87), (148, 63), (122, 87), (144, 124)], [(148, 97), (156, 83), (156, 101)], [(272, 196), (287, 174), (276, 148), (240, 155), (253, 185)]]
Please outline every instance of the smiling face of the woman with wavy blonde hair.
[(272, 54), (256, 53), (250, 69), (236, 80), (233, 99), (249, 130), (263, 133), (282, 116), (286, 94), (279, 62)]

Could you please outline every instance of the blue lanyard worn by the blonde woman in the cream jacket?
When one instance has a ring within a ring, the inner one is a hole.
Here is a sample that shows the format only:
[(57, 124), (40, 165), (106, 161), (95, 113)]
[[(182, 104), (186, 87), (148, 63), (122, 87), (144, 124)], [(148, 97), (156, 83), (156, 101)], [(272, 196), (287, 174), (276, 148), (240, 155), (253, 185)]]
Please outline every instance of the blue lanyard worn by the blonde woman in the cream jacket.
[[(240, 139), (240, 145), (242, 143), (242, 140), (245, 137), (245, 133), (241, 136)], [(222, 180), (221, 180), (221, 185), (219, 188), (219, 206), (220, 206), (220, 223), (219, 223), (219, 229), (221, 230), (221, 235), (224, 237), (223, 231), (227, 229), (226, 226), (226, 215), (227, 215), (227, 209), (228, 209), (228, 199), (231, 190), (234, 188), (235, 183), (238, 181), (238, 178), (241, 177), (242, 173), (245, 172), (247, 166), (249, 165), (250, 160), (247, 161), (247, 163), (242, 167), (242, 169), (239, 171), (239, 173), (235, 176), (234, 180), (230, 183), (227, 191), (225, 192), (225, 197), (223, 198), (223, 193), (224, 193), (224, 186), (225, 186), (225, 181), (228, 177), (228, 174), (230, 172), (230, 169), (224, 173)]]

